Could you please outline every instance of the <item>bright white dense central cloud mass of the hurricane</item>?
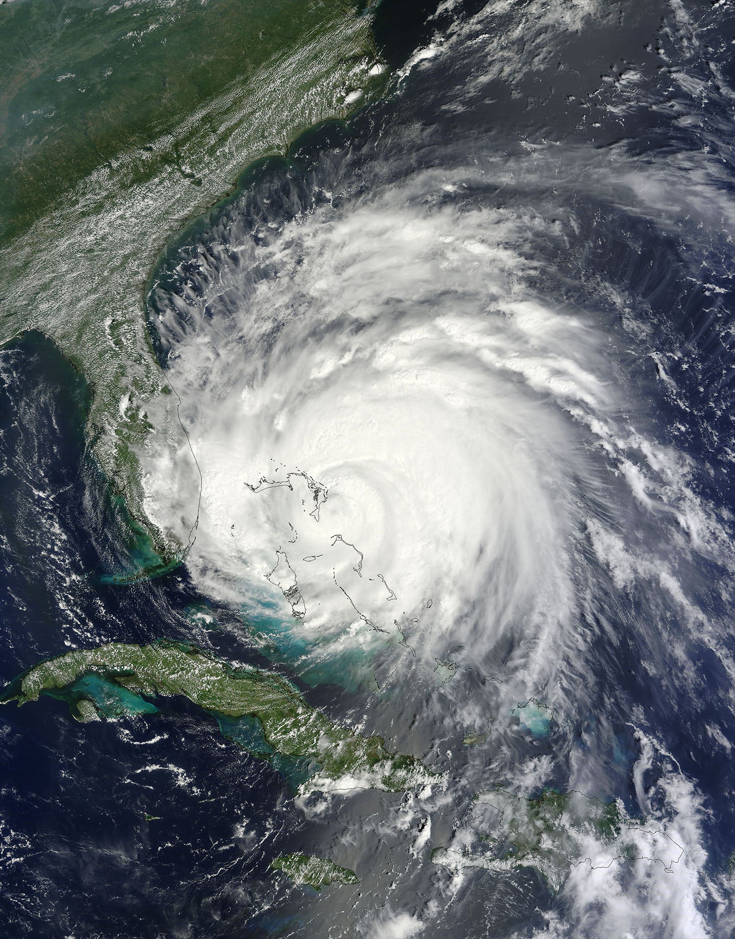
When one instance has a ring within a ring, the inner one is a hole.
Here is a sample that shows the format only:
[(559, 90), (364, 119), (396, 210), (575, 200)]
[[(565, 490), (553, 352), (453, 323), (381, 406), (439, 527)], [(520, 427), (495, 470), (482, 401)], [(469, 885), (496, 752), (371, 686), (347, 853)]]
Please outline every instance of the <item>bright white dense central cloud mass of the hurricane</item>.
[(415, 204), (446, 188), (286, 225), (247, 304), (177, 350), (203, 474), (190, 568), (320, 654), (400, 628), (432, 662), (457, 640), (482, 661), (570, 606), (588, 470), (566, 408), (610, 407), (602, 338), (526, 285), (542, 219)]

